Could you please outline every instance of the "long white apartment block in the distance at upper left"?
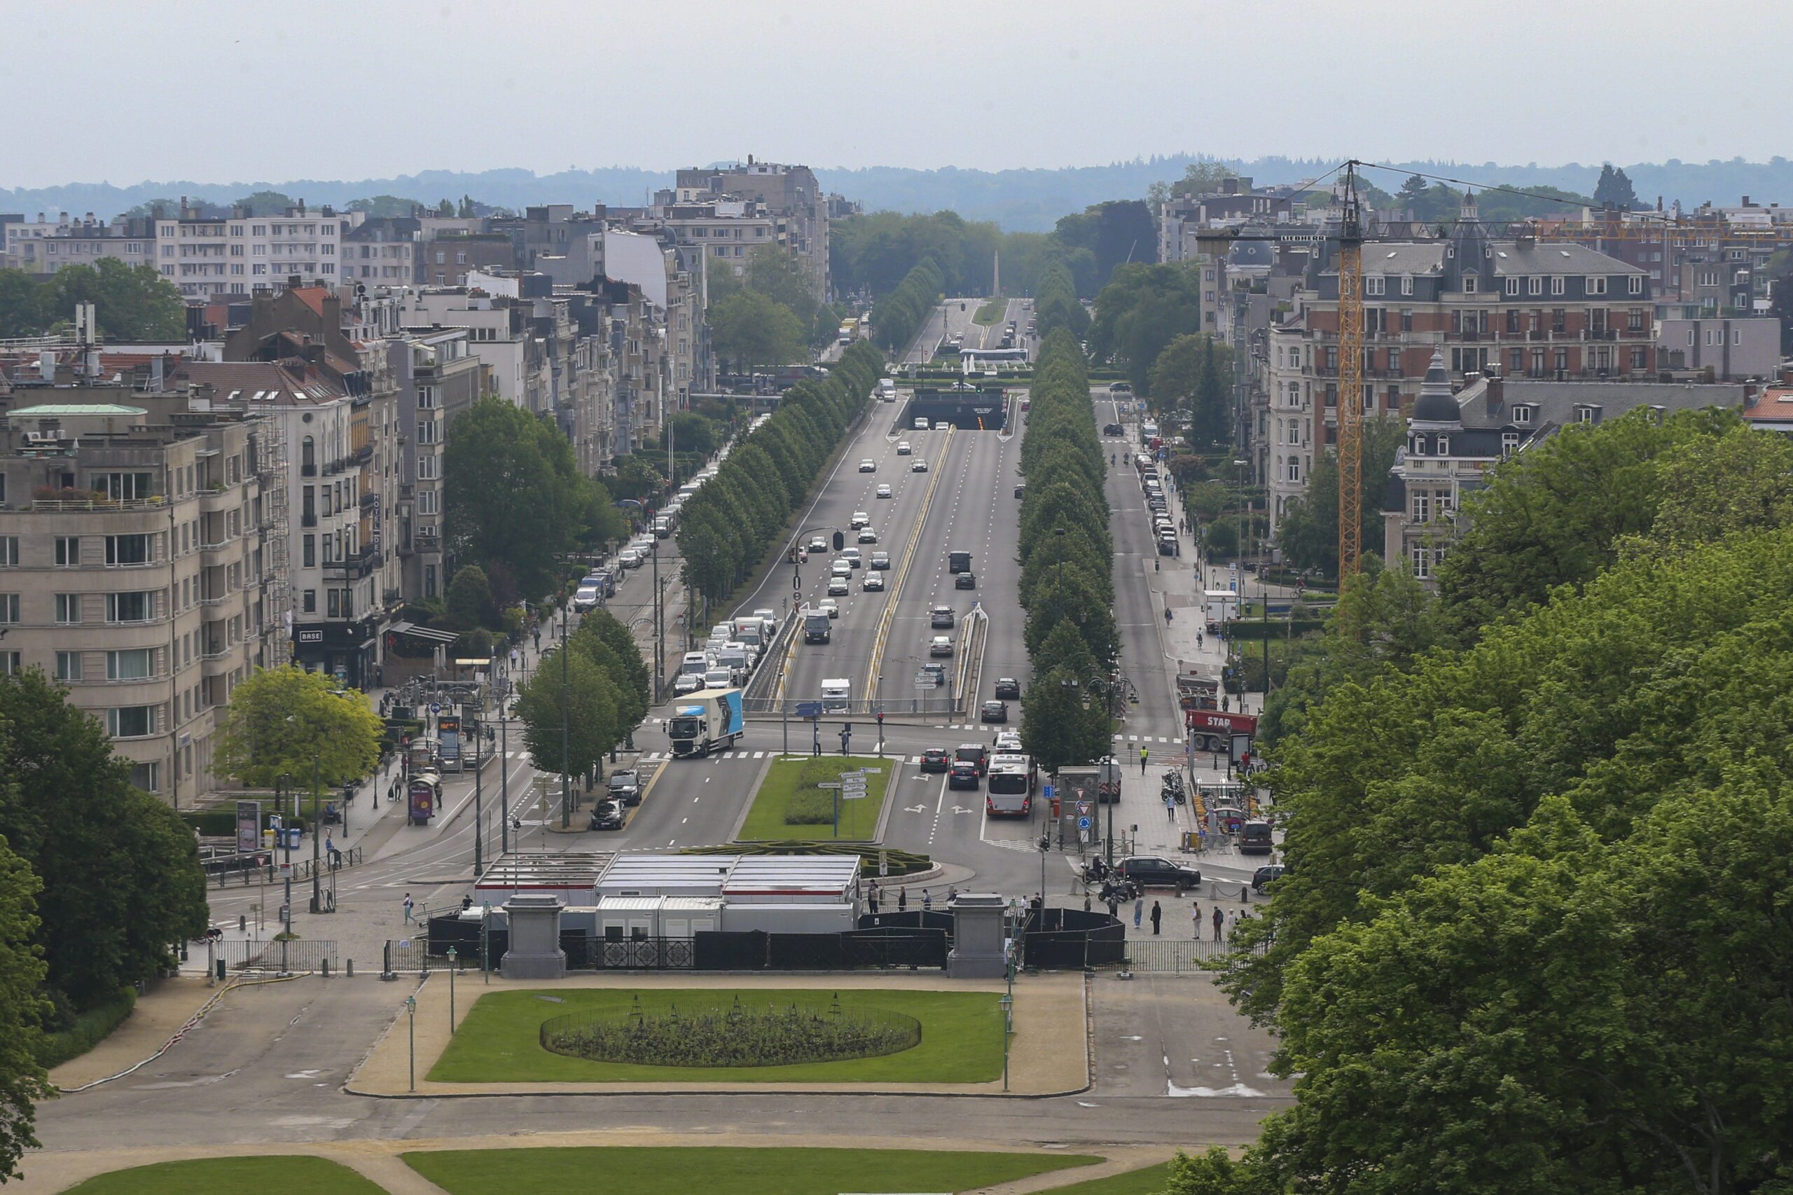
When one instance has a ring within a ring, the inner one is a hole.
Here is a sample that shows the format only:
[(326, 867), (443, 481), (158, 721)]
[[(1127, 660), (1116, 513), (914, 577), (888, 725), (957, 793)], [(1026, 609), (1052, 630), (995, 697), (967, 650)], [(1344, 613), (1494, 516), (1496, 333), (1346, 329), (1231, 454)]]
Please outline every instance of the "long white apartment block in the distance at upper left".
[(201, 215), (181, 201), (176, 215), (156, 215), (156, 267), (188, 298), (249, 294), (298, 278), (301, 285), (341, 282), (342, 233), (359, 214), (298, 203), (280, 215)]

